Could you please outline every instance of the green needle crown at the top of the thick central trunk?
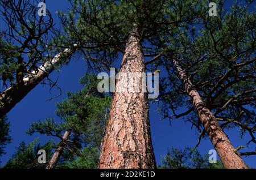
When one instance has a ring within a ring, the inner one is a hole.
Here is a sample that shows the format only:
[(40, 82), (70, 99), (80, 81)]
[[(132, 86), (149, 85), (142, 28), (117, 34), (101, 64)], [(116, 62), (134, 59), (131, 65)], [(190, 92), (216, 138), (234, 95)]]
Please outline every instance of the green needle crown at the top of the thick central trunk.
[(154, 57), (162, 52), (166, 40), (158, 34), (170, 31), (171, 36), (177, 36), (181, 28), (196, 23), (207, 10), (207, 1), (193, 0), (70, 2), (68, 12), (59, 12), (67, 36), (63, 44), (78, 43), (88, 67), (100, 70), (109, 68), (124, 52), (134, 25), (141, 36), (143, 53)]

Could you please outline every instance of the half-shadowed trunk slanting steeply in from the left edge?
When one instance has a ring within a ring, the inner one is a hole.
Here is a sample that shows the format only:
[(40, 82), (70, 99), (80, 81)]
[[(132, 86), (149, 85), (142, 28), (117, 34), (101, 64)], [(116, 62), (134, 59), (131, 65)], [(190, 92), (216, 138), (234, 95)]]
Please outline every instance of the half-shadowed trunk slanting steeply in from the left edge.
[[(76, 46), (76, 44), (74, 45)], [(12, 85), (0, 93), (0, 117), (8, 113), (23, 97), (27, 95), (36, 85), (46, 78), (57, 65), (62, 62), (61, 59), (72, 54), (72, 49), (65, 49), (63, 53), (55, 55), (51, 61), (38, 67), (38, 72), (31, 72), (23, 78), (23, 83)]]

